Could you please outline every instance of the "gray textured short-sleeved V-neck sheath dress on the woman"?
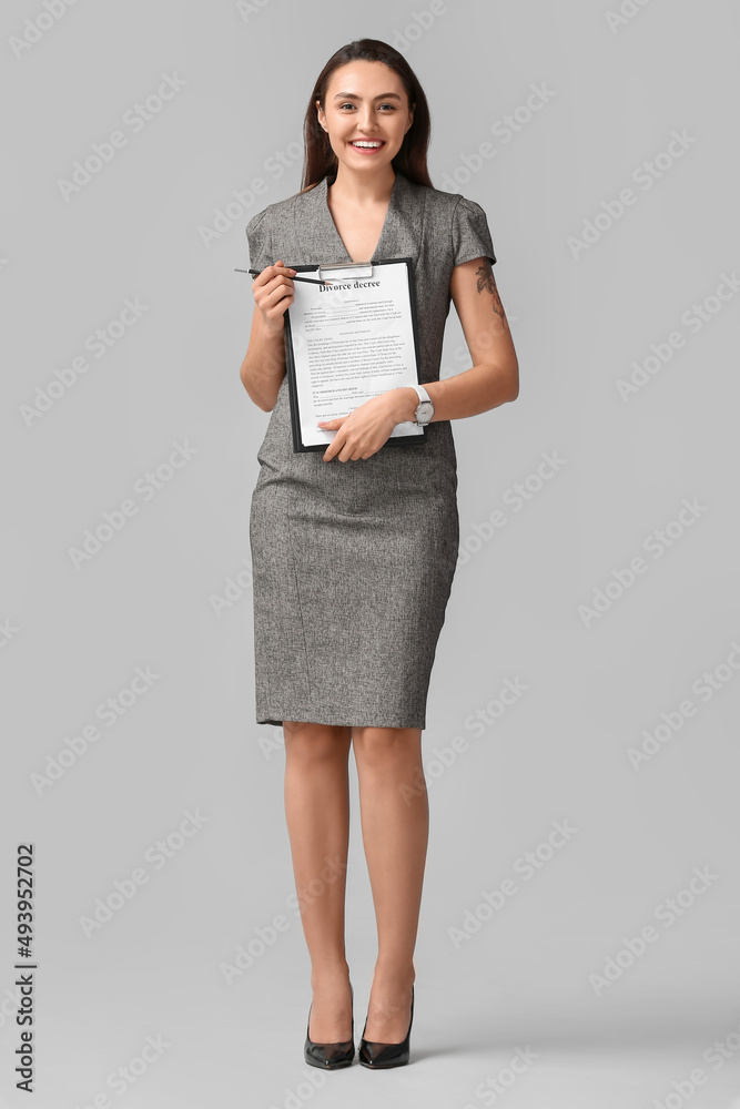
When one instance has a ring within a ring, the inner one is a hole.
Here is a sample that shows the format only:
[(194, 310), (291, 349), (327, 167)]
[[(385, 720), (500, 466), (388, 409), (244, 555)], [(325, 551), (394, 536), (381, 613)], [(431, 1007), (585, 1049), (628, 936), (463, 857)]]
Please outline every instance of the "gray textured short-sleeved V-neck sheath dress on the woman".
[[(352, 262), (330, 184), (324, 177), (252, 217), (252, 267)], [(496, 262), (484, 210), (396, 173), (371, 261), (406, 256), (415, 264), (419, 378), (437, 381), (453, 267)], [(257, 723), (426, 728), (459, 522), (450, 421), (433, 420), (425, 435), (424, 445), (384, 445), (354, 461), (295, 454), (283, 377), (250, 515)]]

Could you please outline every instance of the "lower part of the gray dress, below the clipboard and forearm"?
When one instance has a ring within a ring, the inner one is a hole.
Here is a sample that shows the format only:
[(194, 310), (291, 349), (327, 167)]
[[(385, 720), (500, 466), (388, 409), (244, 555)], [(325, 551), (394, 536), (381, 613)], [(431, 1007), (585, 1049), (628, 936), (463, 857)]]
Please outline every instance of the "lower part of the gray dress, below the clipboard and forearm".
[(325, 462), (293, 452), (284, 378), (257, 460), (257, 723), (424, 729), (459, 541), (449, 421), (423, 446)]

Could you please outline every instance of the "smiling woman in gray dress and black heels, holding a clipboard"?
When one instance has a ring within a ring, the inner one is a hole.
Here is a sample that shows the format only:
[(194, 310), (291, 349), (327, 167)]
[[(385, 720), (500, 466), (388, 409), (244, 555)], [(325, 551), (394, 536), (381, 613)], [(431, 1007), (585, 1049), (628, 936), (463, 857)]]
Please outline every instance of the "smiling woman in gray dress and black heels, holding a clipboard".
[[(359, 1061), (379, 1069), (409, 1058), (428, 834), (422, 730), (459, 539), (450, 420), (514, 400), (518, 364), (486, 215), (433, 187), (427, 101), (403, 55), (376, 39), (338, 50), (314, 88), (305, 139), (304, 187), (246, 227), (261, 273), (241, 378), (271, 413), (250, 520), (256, 719), (285, 736), (285, 813), (312, 964), (304, 1055), (324, 1069), (355, 1054), (344, 943), (354, 747), (378, 935)], [(291, 265), (407, 256), (426, 394), (388, 389), (326, 421), (334, 435), (324, 452), (294, 452)], [(474, 365), (440, 381), (450, 298)], [(425, 442), (386, 446), (404, 420), (426, 426)], [(327, 864), (338, 879), (321, 879)]]

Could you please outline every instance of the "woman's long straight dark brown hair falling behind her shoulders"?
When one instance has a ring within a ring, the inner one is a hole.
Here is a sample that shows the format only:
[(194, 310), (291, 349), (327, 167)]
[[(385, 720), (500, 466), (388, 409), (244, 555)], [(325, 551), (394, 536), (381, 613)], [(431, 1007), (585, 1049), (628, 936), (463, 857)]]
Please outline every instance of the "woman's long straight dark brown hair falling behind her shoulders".
[(301, 192), (313, 189), (325, 176), (335, 176), (338, 165), (337, 156), (332, 150), (328, 135), (318, 122), (316, 101), (326, 111), (326, 90), (332, 74), (339, 65), (347, 62), (366, 61), (383, 62), (394, 70), (403, 81), (408, 96), (408, 106), (414, 112), (414, 121), (404, 136), (401, 150), (392, 161), (396, 173), (402, 173), (409, 181), (433, 189), (432, 179), (426, 164), (426, 152), (429, 145), (429, 106), (418, 79), (403, 54), (381, 39), (356, 39), (341, 47), (332, 54), (318, 74), (314, 90), (308, 100), (308, 109), (303, 123), (305, 155), (303, 161), (303, 182)]

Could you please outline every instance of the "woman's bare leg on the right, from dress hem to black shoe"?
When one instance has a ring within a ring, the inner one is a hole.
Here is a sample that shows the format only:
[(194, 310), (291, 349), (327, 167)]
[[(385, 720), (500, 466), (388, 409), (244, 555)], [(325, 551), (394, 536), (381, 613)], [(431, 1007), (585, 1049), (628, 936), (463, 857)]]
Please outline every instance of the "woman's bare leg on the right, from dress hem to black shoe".
[(359, 808), (378, 954), (365, 1038), (398, 1044), (410, 1018), (429, 805), (420, 728), (354, 728)]

